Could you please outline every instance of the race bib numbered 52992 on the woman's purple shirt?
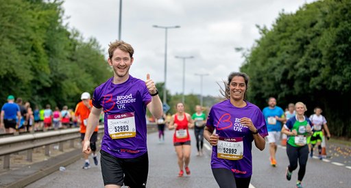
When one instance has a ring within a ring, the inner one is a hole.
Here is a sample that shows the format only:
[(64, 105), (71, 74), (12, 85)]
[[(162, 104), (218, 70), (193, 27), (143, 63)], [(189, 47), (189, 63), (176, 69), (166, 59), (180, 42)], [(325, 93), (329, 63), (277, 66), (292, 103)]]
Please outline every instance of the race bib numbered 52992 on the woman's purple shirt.
[(217, 157), (220, 159), (239, 160), (243, 159), (243, 137), (224, 138), (219, 137), (217, 144)]

